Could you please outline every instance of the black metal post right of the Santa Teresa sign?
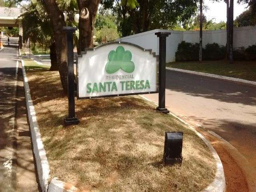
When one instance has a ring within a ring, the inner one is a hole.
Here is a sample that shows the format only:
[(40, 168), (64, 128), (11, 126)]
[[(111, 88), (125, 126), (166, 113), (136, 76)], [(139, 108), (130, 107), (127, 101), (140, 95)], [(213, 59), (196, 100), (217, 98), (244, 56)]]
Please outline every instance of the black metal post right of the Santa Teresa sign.
[(166, 37), (168, 37), (170, 32), (157, 32), (155, 35), (159, 37), (159, 93), (158, 93), (158, 111), (168, 114), (165, 108), (165, 86), (166, 86)]

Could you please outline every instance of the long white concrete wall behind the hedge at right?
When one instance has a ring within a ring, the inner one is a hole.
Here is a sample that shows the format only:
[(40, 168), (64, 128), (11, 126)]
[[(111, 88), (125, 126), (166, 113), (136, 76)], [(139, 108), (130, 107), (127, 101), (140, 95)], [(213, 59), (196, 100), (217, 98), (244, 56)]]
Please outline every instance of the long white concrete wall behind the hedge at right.
[[(143, 32), (123, 38), (116, 41), (130, 42), (137, 44), (145, 49), (152, 49), (158, 54), (159, 42), (156, 32), (171, 32), (172, 34), (166, 39), (166, 62), (175, 61), (175, 52), (178, 44), (182, 41), (199, 43), (199, 31), (173, 31), (155, 29), (148, 32)], [(218, 43), (219, 45), (226, 45), (226, 30), (206, 30), (203, 31), (203, 47), (206, 44)], [(245, 48), (256, 44), (256, 26), (245, 26), (234, 28), (234, 48), (244, 46)]]

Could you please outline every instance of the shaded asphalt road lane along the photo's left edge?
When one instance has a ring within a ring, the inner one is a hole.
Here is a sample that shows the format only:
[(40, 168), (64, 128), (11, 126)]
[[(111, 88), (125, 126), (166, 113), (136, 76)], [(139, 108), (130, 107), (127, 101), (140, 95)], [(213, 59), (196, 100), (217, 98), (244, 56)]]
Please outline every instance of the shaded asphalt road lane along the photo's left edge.
[(14, 191), (13, 131), (17, 48), (0, 50), (0, 191)]

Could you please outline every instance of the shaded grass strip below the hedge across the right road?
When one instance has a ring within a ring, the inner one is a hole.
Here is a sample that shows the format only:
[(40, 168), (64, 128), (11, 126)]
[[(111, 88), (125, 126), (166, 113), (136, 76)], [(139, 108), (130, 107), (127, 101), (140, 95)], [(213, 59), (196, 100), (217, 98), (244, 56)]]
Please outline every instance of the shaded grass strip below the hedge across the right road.
[(202, 61), (202, 63), (188, 61), (171, 62), (166, 66), (256, 81), (256, 61), (235, 61), (234, 64), (229, 64), (226, 60)]

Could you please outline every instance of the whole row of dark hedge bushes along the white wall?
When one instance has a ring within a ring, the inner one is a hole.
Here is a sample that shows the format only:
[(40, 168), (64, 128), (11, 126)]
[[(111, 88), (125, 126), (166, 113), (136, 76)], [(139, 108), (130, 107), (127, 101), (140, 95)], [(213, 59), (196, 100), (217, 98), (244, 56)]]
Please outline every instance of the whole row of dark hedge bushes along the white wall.
[[(202, 50), (203, 60), (220, 60), (226, 57), (226, 46), (207, 44)], [(234, 60), (256, 60), (256, 44), (234, 49)], [(199, 44), (182, 41), (175, 53), (176, 61), (195, 61), (199, 57)]]

